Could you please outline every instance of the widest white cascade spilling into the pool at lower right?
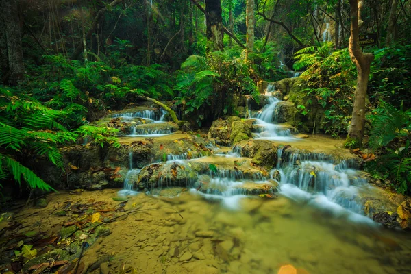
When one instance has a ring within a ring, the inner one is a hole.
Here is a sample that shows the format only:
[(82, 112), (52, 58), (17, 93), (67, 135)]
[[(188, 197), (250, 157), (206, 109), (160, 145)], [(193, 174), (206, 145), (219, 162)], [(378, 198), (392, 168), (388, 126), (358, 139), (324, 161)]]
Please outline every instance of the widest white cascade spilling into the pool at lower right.
[(363, 206), (354, 199), (366, 181), (358, 171), (349, 168), (352, 164), (345, 160), (334, 164), (330, 156), (323, 154), (284, 156), (289, 158), (288, 162), (282, 162), (283, 149), (279, 148), (276, 169), (271, 171), (271, 178), (279, 181), (282, 195), (356, 221), (371, 222), (362, 216)]

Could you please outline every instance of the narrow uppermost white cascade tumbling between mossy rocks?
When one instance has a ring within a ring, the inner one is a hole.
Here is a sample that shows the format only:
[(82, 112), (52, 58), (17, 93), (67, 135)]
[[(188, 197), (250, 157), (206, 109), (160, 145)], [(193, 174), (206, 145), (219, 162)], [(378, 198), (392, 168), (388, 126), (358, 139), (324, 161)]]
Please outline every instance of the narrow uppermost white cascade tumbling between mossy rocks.
[(257, 138), (266, 140), (295, 140), (295, 138), (291, 136), (289, 129), (284, 129), (284, 127), (275, 124), (277, 120), (277, 104), (281, 101), (273, 97), (274, 91), (275, 86), (269, 84), (265, 92), (269, 103), (253, 117), (253, 119), (256, 120), (256, 125), (261, 128), (261, 132), (257, 133)]

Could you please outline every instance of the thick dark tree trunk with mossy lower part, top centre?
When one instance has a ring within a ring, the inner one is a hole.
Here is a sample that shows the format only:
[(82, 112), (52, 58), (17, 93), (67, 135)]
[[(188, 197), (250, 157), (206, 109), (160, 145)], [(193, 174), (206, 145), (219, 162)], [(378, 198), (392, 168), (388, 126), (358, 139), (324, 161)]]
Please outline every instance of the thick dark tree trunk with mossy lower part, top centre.
[(206, 0), (207, 46), (206, 51), (223, 51), (223, 18), (221, 0)]

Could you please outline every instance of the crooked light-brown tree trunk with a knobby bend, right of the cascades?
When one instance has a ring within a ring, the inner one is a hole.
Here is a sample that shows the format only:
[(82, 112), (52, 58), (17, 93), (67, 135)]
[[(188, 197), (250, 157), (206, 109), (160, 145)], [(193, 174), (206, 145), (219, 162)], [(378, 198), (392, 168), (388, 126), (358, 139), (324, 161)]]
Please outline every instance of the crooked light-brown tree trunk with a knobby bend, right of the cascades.
[(364, 6), (362, 0), (349, 0), (351, 14), (351, 36), (349, 37), (349, 55), (351, 61), (357, 67), (357, 87), (354, 98), (351, 125), (347, 136), (347, 145), (353, 147), (362, 146), (365, 124), (365, 97), (366, 87), (369, 82), (371, 62), (374, 60), (373, 53), (363, 53), (360, 48), (358, 34), (362, 25), (361, 10)]

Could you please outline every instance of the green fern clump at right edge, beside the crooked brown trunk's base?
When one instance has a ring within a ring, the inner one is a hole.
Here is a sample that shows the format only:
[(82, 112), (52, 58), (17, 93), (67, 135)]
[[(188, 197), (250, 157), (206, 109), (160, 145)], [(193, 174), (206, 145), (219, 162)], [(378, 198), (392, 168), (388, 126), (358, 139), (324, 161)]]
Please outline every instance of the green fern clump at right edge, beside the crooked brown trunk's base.
[(411, 190), (411, 109), (397, 110), (382, 101), (369, 117), (373, 127), (369, 145), (379, 156), (366, 164), (377, 179), (388, 180), (398, 192)]

